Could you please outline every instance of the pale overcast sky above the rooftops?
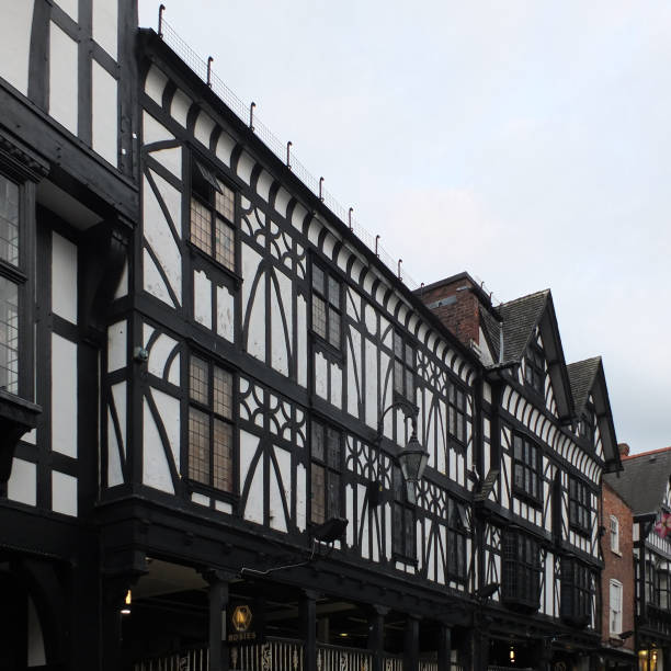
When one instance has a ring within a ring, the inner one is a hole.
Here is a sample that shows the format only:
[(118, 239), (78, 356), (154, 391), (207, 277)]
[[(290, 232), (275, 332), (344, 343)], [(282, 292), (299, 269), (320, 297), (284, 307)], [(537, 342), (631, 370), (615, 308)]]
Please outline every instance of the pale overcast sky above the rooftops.
[(668, 1), (164, 3), (417, 282), (549, 287), (567, 362), (603, 356), (618, 441), (671, 445)]

